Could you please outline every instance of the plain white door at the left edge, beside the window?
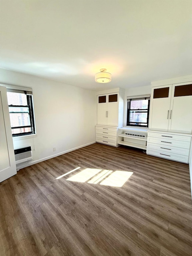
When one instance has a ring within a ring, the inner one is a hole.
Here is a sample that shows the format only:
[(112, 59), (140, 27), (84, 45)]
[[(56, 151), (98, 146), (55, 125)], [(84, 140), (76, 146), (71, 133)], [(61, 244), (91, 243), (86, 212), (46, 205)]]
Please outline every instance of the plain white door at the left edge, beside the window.
[(0, 182), (16, 174), (6, 87), (0, 86)]

